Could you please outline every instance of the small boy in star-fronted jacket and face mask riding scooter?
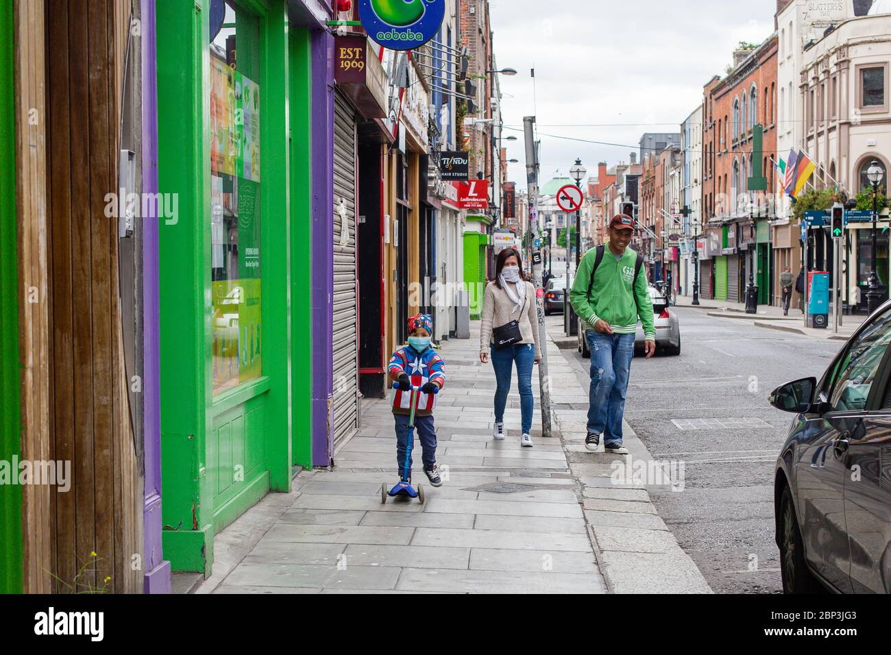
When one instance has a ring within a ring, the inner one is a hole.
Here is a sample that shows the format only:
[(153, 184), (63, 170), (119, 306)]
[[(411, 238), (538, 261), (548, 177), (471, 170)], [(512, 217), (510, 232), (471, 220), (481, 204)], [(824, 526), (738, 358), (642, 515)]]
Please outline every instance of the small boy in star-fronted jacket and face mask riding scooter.
[[(437, 432), (433, 425), (433, 410), (437, 405), (437, 392), (446, 384), (446, 366), (442, 357), (430, 347), (433, 317), (419, 314), (408, 319), (408, 345), (390, 357), (388, 372), (399, 389), (393, 391), (393, 418), (396, 420), (396, 465), (399, 475), (405, 473), (405, 453), (408, 450), (408, 427), (412, 401), (417, 411), (414, 425), (418, 430), (423, 448), (424, 472), (434, 487), (442, 487), (443, 481), (437, 468)], [(412, 387), (420, 387), (419, 398), (413, 398)], [(411, 479), (411, 461), (408, 475)]]

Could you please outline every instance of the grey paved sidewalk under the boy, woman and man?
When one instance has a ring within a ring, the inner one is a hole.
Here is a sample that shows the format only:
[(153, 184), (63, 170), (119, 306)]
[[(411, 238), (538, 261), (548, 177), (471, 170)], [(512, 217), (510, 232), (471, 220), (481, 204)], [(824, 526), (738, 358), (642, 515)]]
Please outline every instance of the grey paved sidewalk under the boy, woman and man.
[[(300, 472), (293, 491), (267, 496), (217, 536), (214, 576), (198, 593), (707, 593), (647, 488), (613, 484), (614, 463), (624, 458), (580, 447), (587, 386), (551, 333), (544, 343), (560, 400), (553, 437), (541, 437), (534, 375), (535, 447), (519, 446), (516, 385), (507, 438), (493, 440), (495, 378), (478, 361), (478, 331), (472, 323), (470, 340), (441, 348), (448, 383), (437, 405), (437, 460), (445, 484), (429, 485), (416, 447), (413, 479), (425, 504), (380, 503), (380, 485), (397, 479), (393, 418), (387, 399), (365, 398), (363, 426), (331, 471)], [(635, 439), (627, 442), (633, 456), (646, 455)]]

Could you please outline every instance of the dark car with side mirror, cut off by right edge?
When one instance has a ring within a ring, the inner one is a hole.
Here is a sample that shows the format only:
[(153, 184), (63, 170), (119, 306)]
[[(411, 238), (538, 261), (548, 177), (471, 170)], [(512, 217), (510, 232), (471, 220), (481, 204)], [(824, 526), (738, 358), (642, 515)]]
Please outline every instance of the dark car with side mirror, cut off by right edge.
[(891, 302), (822, 379), (774, 389), (795, 413), (774, 474), (783, 590), (891, 593)]

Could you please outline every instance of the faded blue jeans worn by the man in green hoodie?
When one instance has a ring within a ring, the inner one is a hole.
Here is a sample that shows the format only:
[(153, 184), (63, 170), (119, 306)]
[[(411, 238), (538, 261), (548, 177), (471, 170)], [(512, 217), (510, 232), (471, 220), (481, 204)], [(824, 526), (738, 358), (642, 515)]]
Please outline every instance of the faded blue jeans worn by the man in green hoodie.
[(591, 350), (588, 434), (602, 434), (605, 446), (621, 446), (625, 392), (634, 358), (634, 334), (601, 334), (587, 330), (584, 336)]

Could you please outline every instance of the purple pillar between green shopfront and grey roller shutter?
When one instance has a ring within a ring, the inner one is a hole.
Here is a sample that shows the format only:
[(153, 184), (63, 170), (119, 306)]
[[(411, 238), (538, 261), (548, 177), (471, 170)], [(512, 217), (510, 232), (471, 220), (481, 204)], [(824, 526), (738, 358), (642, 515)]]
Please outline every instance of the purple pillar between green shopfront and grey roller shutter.
[(313, 57), (313, 464), (331, 463), (334, 290), (334, 38), (312, 36)]

